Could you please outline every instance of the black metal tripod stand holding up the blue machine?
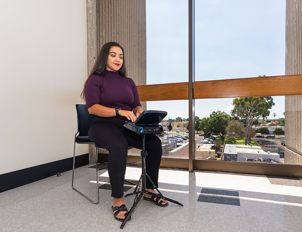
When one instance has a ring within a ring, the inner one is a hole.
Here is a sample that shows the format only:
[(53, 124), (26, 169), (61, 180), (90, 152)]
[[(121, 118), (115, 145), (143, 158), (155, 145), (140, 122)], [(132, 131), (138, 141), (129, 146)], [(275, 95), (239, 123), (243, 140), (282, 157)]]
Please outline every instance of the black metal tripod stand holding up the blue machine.
[[(151, 180), (151, 178), (149, 177), (148, 173), (146, 173), (146, 156), (148, 155), (146, 150), (145, 150), (145, 135), (142, 134), (142, 139), (143, 139), (143, 149), (141, 151), (141, 156), (142, 156), (142, 174), (140, 176), (140, 180), (137, 183), (137, 186), (134, 189), (133, 193), (129, 193), (126, 194), (126, 196), (130, 196), (130, 195), (134, 195), (136, 194), (135, 198), (134, 198), (134, 202), (133, 205), (129, 211), (129, 213), (127, 214), (127, 216), (125, 217), (123, 223), (120, 225), (120, 228), (123, 229), (124, 225), (127, 223), (128, 219), (130, 218), (131, 214), (133, 213), (135, 207), (137, 206), (138, 202), (140, 202), (140, 199), (142, 199), (143, 194), (147, 193), (149, 195), (155, 196), (155, 197), (160, 197), (161, 199), (173, 202), (175, 204), (184, 206), (183, 204), (179, 203), (178, 201), (166, 198), (162, 195), (162, 193), (158, 190), (158, 188), (155, 186), (155, 184), (153, 183), (153, 181)], [(159, 193), (159, 195), (155, 194), (155, 193), (150, 193), (147, 191), (146, 189), (146, 177), (148, 177), (148, 179), (150, 180), (150, 182), (152, 183), (153, 187), (157, 190), (157, 192)], [(140, 187), (140, 183), (142, 183), (142, 187)], [(139, 189), (141, 188), (141, 190), (139, 191)], [(140, 195), (138, 195), (140, 194)]]

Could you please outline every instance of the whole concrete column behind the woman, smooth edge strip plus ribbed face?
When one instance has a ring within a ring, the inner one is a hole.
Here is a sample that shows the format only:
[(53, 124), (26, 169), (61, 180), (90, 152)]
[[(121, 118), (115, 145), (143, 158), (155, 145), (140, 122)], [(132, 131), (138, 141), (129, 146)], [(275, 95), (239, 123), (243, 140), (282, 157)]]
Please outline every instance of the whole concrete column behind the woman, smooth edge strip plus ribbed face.
[[(124, 48), (127, 77), (137, 85), (146, 84), (146, 1), (86, 0), (88, 73), (103, 44), (117, 42)], [(141, 102), (146, 110), (146, 102)], [(95, 163), (95, 149), (89, 149), (89, 161)], [(102, 152), (102, 151), (100, 151)], [(107, 153), (107, 152), (106, 152)], [(140, 150), (132, 149), (132, 155)]]

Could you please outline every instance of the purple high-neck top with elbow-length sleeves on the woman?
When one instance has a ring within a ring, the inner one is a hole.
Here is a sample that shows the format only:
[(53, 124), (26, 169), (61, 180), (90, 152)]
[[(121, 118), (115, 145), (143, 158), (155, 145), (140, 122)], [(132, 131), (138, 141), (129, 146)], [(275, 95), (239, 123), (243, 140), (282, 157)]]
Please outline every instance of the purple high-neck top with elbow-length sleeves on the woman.
[(132, 111), (140, 105), (137, 87), (128, 77), (118, 72), (108, 71), (101, 75), (92, 75), (85, 88), (87, 108), (100, 104), (109, 108), (121, 108)]

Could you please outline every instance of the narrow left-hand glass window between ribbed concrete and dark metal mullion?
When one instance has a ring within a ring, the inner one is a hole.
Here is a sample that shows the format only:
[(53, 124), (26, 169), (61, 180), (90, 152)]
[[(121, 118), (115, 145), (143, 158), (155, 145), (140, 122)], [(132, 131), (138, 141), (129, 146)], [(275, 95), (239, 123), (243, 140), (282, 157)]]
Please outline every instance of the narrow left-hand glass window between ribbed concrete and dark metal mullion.
[[(188, 82), (188, 2), (146, 0), (147, 84)], [(188, 158), (188, 100), (147, 102), (167, 111), (162, 156)]]

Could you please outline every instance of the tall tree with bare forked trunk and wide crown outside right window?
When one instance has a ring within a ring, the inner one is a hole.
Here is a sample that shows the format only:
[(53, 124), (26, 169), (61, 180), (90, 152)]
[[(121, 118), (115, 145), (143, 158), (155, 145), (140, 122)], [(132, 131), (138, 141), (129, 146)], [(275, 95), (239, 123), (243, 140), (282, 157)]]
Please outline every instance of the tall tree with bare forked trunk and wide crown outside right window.
[(252, 128), (254, 119), (267, 117), (270, 113), (269, 109), (271, 109), (275, 103), (272, 97), (241, 97), (235, 98), (233, 105), (235, 105), (235, 107), (231, 111), (232, 115), (245, 120), (245, 145), (247, 145), (249, 130)]

